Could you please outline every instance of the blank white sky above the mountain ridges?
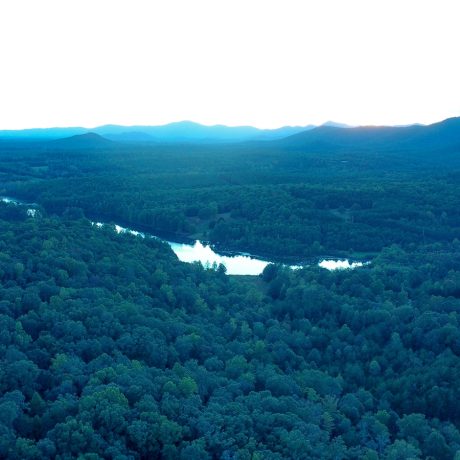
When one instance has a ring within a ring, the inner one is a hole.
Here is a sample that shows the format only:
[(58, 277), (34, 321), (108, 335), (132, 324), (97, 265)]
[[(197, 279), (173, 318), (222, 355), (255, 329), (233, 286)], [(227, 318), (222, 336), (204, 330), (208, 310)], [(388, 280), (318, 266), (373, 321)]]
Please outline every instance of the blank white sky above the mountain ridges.
[(460, 115), (459, 0), (0, 0), (0, 129)]

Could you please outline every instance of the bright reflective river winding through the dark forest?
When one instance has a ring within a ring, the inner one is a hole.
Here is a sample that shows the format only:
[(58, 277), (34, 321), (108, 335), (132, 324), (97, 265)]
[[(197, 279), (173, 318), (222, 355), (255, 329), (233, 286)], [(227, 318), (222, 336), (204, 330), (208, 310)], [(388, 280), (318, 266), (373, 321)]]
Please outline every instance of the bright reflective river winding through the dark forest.
[[(36, 216), (35, 203), (25, 203), (24, 201), (18, 200), (12, 197), (0, 197), (0, 201), (5, 203), (12, 203), (15, 205), (27, 206), (27, 214), (31, 217)], [(204, 267), (212, 267), (214, 264), (225, 265), (227, 274), (229, 275), (259, 275), (263, 269), (270, 263), (268, 260), (259, 259), (252, 257), (248, 254), (237, 254), (234, 256), (222, 255), (214, 251), (214, 249), (208, 245), (203, 244), (201, 241), (195, 241), (194, 244), (176, 243), (174, 241), (166, 241), (158, 238), (154, 235), (147, 233), (138, 232), (129, 228), (121, 227), (120, 225), (106, 224), (103, 222), (92, 222), (97, 227), (112, 226), (114, 231), (117, 233), (130, 233), (132, 235), (146, 238), (153, 237), (166, 242), (177, 258), (182, 262), (201, 262)], [(350, 262), (348, 259), (323, 259), (318, 263), (318, 266), (325, 268), (326, 270), (345, 270), (362, 267), (367, 265), (369, 262)], [(290, 265), (292, 269), (300, 269), (302, 265)]]

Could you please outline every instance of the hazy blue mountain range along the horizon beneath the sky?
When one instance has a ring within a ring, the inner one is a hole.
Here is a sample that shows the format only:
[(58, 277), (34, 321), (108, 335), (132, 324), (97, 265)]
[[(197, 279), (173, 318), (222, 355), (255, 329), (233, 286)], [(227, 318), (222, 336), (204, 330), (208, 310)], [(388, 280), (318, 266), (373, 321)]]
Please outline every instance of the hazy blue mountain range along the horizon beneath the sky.
[[(322, 126), (261, 130), (251, 126), (204, 126), (192, 122), (164, 126), (105, 125), (86, 128), (49, 128), (0, 131), (3, 142), (38, 141), (47, 150), (110, 149), (123, 144), (247, 144), (265, 152), (412, 152), (460, 151), (460, 117), (431, 125), (343, 127), (334, 122)], [(44, 143), (44, 144), (43, 144)], [(432, 155), (431, 155), (432, 156)]]

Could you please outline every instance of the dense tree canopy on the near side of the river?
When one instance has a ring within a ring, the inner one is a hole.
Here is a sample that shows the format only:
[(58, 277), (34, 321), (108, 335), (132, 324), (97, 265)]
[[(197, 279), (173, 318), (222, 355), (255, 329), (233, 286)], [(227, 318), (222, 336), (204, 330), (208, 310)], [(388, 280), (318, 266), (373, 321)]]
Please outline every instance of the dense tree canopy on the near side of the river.
[(0, 203), (0, 457), (460, 454), (458, 240), (240, 278), (14, 209)]

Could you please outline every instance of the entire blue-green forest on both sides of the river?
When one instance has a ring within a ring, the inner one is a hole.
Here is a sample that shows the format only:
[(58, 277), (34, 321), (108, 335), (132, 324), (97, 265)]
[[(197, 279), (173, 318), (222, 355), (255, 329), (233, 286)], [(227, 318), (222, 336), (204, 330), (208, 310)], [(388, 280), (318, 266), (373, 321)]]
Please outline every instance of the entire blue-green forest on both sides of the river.
[(1, 458), (460, 458), (459, 150), (288, 139), (0, 140)]

